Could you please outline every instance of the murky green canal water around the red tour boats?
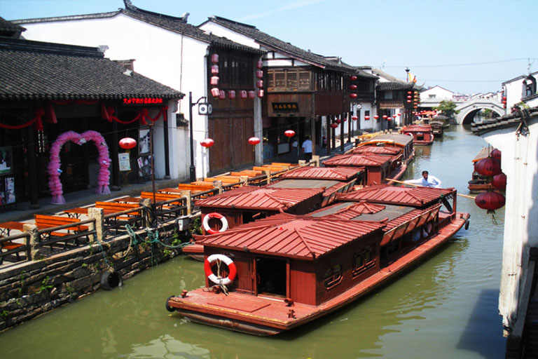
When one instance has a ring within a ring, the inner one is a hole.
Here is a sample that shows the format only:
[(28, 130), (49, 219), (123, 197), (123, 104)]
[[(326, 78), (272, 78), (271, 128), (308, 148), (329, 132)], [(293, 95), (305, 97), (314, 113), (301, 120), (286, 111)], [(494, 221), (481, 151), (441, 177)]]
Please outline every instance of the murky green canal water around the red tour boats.
[[(471, 160), (487, 146), (469, 128), (418, 147), (422, 170), (468, 194)], [(254, 337), (191, 323), (165, 299), (204, 285), (201, 262), (177, 257), (111, 292), (97, 292), (0, 334), (1, 358), (504, 358), (497, 314), (504, 210), (471, 213), (440, 252), (382, 290), (306, 327)]]

